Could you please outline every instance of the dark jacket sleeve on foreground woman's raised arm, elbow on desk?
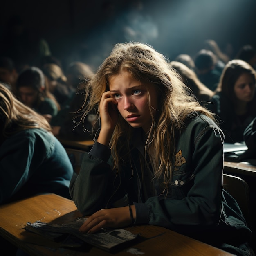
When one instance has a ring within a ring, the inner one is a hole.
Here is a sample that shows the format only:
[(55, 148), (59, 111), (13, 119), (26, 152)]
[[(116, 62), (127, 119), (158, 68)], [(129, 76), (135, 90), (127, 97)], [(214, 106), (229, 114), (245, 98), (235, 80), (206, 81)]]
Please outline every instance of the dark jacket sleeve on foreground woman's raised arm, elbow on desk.
[(91, 151), (85, 153), (79, 174), (71, 179), (71, 198), (84, 215), (107, 208), (118, 194), (110, 155), (110, 148), (95, 142)]

